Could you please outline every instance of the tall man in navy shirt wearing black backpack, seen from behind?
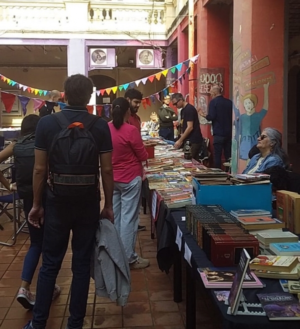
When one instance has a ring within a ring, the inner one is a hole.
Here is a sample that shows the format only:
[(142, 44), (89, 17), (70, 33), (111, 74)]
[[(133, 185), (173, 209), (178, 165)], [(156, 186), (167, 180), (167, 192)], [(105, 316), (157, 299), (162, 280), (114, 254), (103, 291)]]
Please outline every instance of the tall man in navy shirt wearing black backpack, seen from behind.
[[(33, 319), (24, 329), (44, 329), (57, 274), (72, 231), (72, 283), (66, 329), (81, 329), (90, 281), (90, 257), (97, 222), (113, 222), (112, 143), (107, 123), (88, 114), (92, 81), (75, 74), (64, 81), (68, 103), (61, 112), (40, 119), (35, 134), (33, 207), (28, 221), (44, 221), (42, 266), (38, 275)], [(100, 214), (99, 159), (104, 191)], [(47, 179), (45, 220), (41, 195)]]

